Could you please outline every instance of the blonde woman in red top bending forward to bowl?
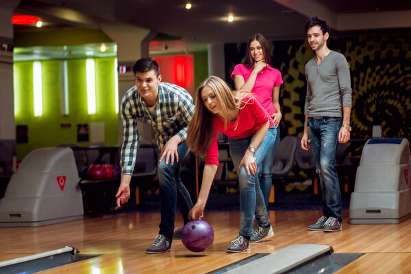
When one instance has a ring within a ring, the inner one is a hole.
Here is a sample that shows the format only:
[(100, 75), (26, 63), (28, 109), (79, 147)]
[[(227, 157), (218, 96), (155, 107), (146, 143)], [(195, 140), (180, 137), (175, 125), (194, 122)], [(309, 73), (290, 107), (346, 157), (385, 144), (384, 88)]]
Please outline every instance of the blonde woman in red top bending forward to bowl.
[[(187, 143), (196, 154), (207, 155), (199, 199), (188, 213), (203, 216), (210, 187), (219, 165), (217, 132), (228, 136), (229, 151), (240, 189), (240, 232), (229, 252), (250, 250), (250, 242), (274, 235), (260, 190), (257, 171), (275, 142), (273, 119), (249, 92), (232, 91), (219, 77), (211, 76), (198, 88), (195, 113), (187, 130)], [(261, 231), (253, 234), (256, 215)]]

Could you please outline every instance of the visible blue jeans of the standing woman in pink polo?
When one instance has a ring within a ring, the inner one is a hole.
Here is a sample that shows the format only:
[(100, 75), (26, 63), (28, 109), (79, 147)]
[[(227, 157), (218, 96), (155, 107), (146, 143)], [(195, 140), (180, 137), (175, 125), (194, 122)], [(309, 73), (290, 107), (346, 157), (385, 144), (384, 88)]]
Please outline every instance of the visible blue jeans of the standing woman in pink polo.
[[(267, 132), (267, 134), (272, 134), (271, 132)], [(264, 197), (265, 206), (269, 206), (269, 200), (271, 195), (271, 186), (273, 185), (273, 164), (274, 164), (274, 156), (275, 156), (275, 148), (277, 147), (279, 142), (279, 125), (275, 130), (275, 141), (274, 145), (272, 145), (267, 152), (264, 160), (262, 161), (261, 166), (258, 168), (257, 175), (258, 179), (260, 179), (260, 188), (262, 192), (262, 197)]]

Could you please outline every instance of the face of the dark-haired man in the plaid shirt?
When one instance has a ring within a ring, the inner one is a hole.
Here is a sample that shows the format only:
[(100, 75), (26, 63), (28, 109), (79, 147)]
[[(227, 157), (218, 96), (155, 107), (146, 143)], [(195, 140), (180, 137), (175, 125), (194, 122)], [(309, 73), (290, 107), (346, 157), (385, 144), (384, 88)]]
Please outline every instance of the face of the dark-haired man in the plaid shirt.
[(158, 84), (161, 82), (161, 75), (155, 73), (154, 69), (145, 73), (136, 72), (136, 87), (142, 99), (147, 103), (157, 98)]

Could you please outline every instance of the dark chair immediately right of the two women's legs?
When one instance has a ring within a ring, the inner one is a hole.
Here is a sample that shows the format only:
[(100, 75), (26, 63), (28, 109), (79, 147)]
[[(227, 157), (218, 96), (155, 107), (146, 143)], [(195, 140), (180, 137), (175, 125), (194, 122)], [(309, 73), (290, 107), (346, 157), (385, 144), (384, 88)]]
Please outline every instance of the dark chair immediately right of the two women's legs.
[(270, 203), (277, 201), (277, 189), (279, 184), (284, 184), (284, 178), (290, 173), (294, 166), (295, 150), (297, 149), (297, 138), (295, 136), (286, 136), (280, 140), (275, 148), (273, 164), (273, 184), (270, 195)]

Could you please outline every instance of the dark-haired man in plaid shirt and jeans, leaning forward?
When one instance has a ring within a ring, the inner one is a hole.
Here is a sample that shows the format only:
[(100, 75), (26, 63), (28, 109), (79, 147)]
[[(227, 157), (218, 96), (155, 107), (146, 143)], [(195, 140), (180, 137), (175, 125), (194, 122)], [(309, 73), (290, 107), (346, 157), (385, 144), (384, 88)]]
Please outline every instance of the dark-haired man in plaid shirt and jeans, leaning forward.
[[(160, 232), (146, 253), (162, 253), (173, 249), (173, 231), (177, 195), (184, 222), (192, 208), (190, 194), (180, 178), (180, 163), (188, 154), (185, 142), (187, 125), (195, 106), (190, 94), (174, 84), (161, 83), (162, 75), (153, 58), (142, 58), (133, 66), (136, 86), (130, 88), (121, 101), (123, 146), (121, 148), (121, 182), (116, 194), (117, 206), (130, 197), (130, 180), (137, 154), (136, 122), (145, 121), (155, 131), (160, 159)], [(184, 205), (184, 206), (181, 206)], [(181, 230), (181, 229), (179, 229)]]

